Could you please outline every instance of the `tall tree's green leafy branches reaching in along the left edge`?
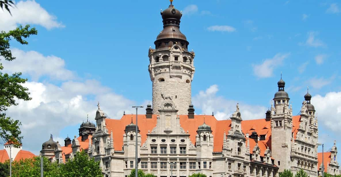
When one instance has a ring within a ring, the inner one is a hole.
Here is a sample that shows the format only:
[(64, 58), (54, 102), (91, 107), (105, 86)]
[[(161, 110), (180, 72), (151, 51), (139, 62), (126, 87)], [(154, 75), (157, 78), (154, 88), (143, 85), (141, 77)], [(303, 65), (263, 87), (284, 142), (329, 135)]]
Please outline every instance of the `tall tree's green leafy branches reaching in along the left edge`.
[[(19, 26), (15, 30), (9, 32), (0, 32), (0, 56), (8, 61), (15, 59), (10, 50), (10, 41), (14, 38), (17, 42), (27, 45), (28, 42), (24, 38), (30, 35), (36, 35), (38, 32), (35, 28), (26, 25), (24, 28)], [(1, 60), (1, 58), (0, 58)], [(17, 99), (30, 100), (28, 88), (23, 84), (27, 79), (21, 78), (21, 73), (12, 75), (2, 73), (3, 66), (0, 63), (0, 137), (4, 142), (11, 141), (17, 147), (21, 144), (21, 131), (19, 126), (21, 123), (11, 117), (6, 117), (6, 110), (12, 105), (18, 105)]]

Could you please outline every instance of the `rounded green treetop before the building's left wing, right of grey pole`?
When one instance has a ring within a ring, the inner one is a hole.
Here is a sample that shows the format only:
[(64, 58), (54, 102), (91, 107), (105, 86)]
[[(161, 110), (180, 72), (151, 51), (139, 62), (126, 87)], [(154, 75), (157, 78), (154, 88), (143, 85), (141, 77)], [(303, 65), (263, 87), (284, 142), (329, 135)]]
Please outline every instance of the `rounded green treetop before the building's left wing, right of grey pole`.
[(100, 162), (89, 158), (83, 150), (77, 152), (75, 158), (65, 164), (60, 164), (60, 177), (103, 177)]

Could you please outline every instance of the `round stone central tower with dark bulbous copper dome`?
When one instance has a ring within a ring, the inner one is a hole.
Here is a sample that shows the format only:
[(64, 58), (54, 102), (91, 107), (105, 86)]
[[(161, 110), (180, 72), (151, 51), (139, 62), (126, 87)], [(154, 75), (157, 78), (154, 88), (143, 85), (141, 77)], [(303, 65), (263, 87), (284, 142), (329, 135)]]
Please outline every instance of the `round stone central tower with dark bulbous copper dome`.
[(189, 42), (180, 32), (181, 12), (172, 1), (161, 11), (163, 30), (157, 36), (155, 49), (149, 48), (150, 80), (153, 90), (153, 114), (158, 114), (161, 103), (170, 99), (178, 114), (188, 114), (191, 104), (191, 83), (195, 67), (195, 53), (188, 51)]

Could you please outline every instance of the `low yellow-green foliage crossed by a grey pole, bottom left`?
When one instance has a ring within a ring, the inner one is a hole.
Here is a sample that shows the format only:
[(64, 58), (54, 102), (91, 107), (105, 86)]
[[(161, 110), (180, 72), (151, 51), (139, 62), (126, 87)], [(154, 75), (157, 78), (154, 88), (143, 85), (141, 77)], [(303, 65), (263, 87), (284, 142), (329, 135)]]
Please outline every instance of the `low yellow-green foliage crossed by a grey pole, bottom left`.
[[(40, 157), (33, 157), (12, 162), (12, 176), (40, 176), (40, 160)], [(6, 163), (9, 165), (9, 161), (7, 161)], [(50, 163), (50, 161), (46, 157), (43, 157), (43, 168), (44, 176), (46, 177), (57, 177), (57, 174), (59, 174), (58, 164)]]

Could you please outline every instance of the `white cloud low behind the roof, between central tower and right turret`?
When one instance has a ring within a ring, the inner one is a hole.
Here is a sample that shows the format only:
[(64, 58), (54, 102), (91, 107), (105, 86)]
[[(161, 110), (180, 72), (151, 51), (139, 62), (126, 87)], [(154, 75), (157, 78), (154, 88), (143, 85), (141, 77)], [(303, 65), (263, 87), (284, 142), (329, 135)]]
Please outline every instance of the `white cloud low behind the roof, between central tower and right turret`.
[[(236, 111), (236, 100), (228, 100), (221, 96), (217, 96), (219, 91), (218, 85), (211, 85), (206, 91), (199, 91), (197, 95), (192, 98), (193, 105), (201, 109), (201, 114), (211, 114), (218, 120), (229, 118), (231, 114)], [(266, 108), (256, 105), (248, 105), (239, 102), (240, 112), (243, 120), (264, 118)]]

